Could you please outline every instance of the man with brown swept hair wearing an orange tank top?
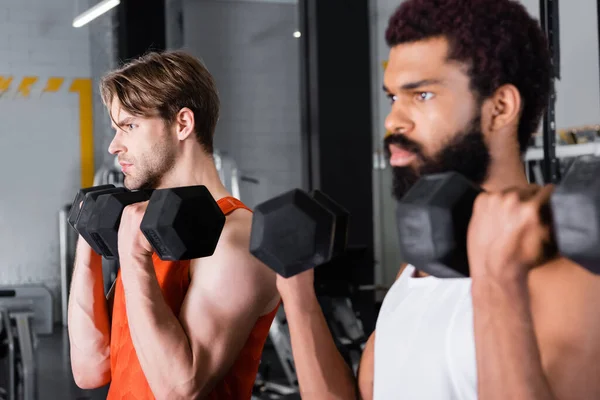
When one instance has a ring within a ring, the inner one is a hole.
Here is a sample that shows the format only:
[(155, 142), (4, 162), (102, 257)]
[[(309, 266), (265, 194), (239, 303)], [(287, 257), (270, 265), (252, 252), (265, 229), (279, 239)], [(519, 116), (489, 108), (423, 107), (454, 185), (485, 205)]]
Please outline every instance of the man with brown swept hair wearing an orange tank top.
[(108, 296), (101, 256), (79, 240), (68, 321), (75, 382), (110, 383), (108, 399), (249, 399), (279, 295), (248, 250), (252, 213), (212, 158), (213, 78), (184, 52), (149, 53), (105, 76), (101, 94), (125, 187), (204, 185), (226, 223), (212, 256), (162, 261), (140, 230), (147, 202), (126, 207)]

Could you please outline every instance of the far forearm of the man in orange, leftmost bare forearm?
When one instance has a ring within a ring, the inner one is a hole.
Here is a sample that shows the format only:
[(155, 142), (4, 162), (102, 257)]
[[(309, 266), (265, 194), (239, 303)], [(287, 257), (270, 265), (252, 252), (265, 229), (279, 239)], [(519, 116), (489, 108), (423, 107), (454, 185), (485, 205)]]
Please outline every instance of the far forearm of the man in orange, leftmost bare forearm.
[(73, 377), (83, 389), (110, 382), (110, 318), (102, 258), (83, 239), (77, 243), (68, 305)]

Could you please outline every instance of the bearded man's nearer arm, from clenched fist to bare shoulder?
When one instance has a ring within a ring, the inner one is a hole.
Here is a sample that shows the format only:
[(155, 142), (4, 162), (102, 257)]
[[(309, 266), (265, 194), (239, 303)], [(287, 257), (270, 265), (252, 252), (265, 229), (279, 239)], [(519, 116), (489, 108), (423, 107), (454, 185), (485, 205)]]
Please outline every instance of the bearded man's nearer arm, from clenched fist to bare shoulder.
[(469, 264), (480, 398), (600, 396), (600, 346), (592, 340), (600, 334), (600, 280), (564, 259), (542, 261), (548, 231), (539, 210), (550, 193), (528, 188), (476, 201)]

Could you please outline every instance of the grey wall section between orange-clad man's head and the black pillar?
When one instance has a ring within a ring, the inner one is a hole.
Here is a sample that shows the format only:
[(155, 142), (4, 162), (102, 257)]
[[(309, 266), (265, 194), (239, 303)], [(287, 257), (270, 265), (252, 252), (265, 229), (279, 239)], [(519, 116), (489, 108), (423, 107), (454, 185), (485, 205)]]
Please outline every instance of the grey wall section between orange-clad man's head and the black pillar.
[(183, 16), (183, 48), (203, 60), (217, 83), (215, 147), (237, 162), (242, 200), (253, 207), (301, 187), (297, 6), (183, 0)]

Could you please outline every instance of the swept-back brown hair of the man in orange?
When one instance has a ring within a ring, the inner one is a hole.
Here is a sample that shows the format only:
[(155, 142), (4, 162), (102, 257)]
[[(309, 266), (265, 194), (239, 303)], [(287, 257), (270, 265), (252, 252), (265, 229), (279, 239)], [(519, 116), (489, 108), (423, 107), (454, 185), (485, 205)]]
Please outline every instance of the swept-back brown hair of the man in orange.
[(220, 101), (212, 75), (197, 58), (183, 51), (147, 53), (104, 76), (100, 94), (109, 111), (116, 98), (128, 113), (160, 117), (168, 124), (189, 108), (196, 137), (212, 154)]

